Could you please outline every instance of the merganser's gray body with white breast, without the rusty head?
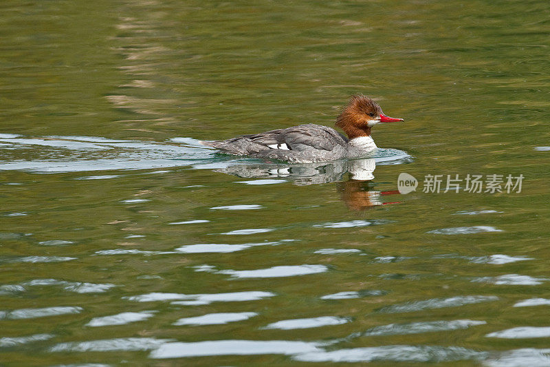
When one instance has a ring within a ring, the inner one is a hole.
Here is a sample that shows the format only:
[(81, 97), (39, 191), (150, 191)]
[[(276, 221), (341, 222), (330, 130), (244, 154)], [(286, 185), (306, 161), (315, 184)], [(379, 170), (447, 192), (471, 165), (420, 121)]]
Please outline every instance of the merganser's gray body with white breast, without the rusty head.
[(205, 141), (203, 144), (217, 148), (225, 154), (271, 158), (291, 163), (360, 158), (368, 156), (376, 149), (370, 136), (348, 140), (331, 127), (314, 124), (237, 136), (228, 140)]

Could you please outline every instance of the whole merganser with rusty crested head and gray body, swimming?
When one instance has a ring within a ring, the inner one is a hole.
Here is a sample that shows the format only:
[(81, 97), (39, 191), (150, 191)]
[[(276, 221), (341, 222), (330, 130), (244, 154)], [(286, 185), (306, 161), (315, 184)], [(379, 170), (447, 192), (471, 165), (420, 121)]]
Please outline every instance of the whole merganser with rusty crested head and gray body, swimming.
[(285, 160), (291, 163), (327, 162), (342, 158), (369, 156), (376, 149), (371, 127), (380, 123), (403, 121), (386, 116), (380, 105), (361, 94), (351, 97), (336, 118), (336, 127), (306, 124), (276, 129), (261, 134), (243, 135), (228, 140), (205, 141), (225, 154)]

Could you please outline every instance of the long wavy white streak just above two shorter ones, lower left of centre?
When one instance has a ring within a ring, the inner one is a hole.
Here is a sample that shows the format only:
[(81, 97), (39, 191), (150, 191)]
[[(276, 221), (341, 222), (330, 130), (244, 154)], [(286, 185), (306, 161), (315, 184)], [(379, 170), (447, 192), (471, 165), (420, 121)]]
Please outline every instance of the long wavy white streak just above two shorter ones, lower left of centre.
[(192, 294), (181, 293), (148, 293), (144, 295), (133, 295), (122, 297), (124, 300), (135, 302), (157, 302), (157, 301), (176, 301), (173, 304), (183, 305), (201, 305), (211, 304), (212, 302), (244, 302), (263, 300), (267, 297), (274, 297), (276, 294), (263, 291), (243, 291), (230, 293), (210, 293), (210, 294)]

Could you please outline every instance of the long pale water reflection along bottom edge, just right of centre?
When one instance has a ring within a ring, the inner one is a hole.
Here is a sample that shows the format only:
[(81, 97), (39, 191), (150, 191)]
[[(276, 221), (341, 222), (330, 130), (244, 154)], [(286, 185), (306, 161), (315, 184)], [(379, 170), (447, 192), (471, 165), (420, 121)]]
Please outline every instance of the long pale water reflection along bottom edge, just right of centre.
[(313, 352), (295, 355), (298, 361), (308, 362), (446, 362), (468, 359), (481, 359), (487, 355), (476, 350), (458, 346), (375, 346), (367, 348), (350, 348), (330, 352)]

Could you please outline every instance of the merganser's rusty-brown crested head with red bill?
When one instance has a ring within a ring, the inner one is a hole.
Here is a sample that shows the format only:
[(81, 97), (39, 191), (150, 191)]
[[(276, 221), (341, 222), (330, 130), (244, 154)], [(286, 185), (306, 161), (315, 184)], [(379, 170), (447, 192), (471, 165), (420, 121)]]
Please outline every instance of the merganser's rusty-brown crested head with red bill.
[(336, 127), (344, 130), (351, 140), (360, 136), (371, 136), (371, 127), (374, 125), (396, 121), (403, 121), (403, 118), (386, 116), (378, 103), (362, 94), (356, 94), (336, 118)]

